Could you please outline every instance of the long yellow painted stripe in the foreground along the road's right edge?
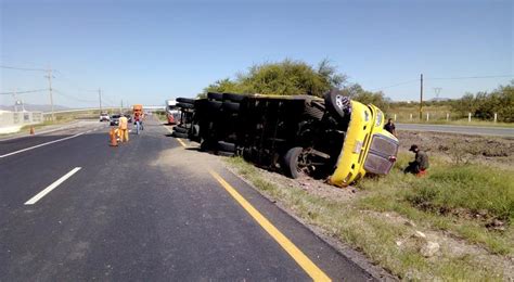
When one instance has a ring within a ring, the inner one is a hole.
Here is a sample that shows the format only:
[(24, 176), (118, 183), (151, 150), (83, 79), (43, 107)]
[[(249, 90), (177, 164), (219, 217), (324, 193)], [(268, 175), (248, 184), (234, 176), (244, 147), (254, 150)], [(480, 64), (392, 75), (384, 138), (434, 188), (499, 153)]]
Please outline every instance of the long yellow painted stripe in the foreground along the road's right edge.
[(279, 243), (287, 254), (314, 281), (331, 281), (331, 279), (316, 266), (298, 247), (293, 244), (279, 229), (277, 229), (262, 214), (246, 201), (233, 187), (218, 174), (209, 169), (209, 174), (227, 190), (227, 192)]

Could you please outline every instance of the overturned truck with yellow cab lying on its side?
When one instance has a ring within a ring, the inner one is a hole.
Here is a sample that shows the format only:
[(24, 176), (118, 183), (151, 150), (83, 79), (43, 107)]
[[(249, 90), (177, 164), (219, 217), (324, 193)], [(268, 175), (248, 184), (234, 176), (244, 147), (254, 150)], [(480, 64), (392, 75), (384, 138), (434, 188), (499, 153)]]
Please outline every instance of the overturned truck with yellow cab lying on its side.
[(398, 152), (398, 139), (383, 129), (382, 111), (338, 91), (324, 100), (209, 92), (177, 102), (182, 116), (175, 137), (292, 178), (306, 174), (346, 187), (365, 174), (388, 174)]

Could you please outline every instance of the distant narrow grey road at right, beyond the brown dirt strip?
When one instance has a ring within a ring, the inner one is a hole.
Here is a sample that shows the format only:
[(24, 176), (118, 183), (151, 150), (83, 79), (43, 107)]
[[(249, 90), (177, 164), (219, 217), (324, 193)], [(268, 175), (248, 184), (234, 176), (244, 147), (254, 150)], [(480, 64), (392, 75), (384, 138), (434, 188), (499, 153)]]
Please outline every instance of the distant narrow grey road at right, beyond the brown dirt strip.
[(514, 138), (514, 128), (506, 128), (506, 127), (396, 124), (396, 128), (398, 130), (433, 131), (433, 132), (461, 133), (461, 134), (471, 134), (471, 136), (499, 136), (499, 137), (513, 137)]

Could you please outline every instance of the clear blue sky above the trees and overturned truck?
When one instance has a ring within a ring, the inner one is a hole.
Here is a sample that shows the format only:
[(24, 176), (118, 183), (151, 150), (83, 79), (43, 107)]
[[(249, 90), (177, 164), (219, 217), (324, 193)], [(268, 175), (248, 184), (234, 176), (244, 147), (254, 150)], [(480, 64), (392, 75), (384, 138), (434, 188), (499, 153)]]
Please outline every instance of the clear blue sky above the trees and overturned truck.
[[(104, 105), (159, 105), (284, 59), (327, 59), (350, 82), (396, 101), (419, 100), (421, 74), (427, 99), (514, 79), (510, 0), (0, 3), (0, 92), (48, 88), (44, 72), (5, 67), (51, 68), (54, 103), (72, 107), (97, 106), (99, 88)], [(49, 93), (18, 99), (46, 104)]]

